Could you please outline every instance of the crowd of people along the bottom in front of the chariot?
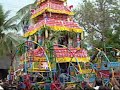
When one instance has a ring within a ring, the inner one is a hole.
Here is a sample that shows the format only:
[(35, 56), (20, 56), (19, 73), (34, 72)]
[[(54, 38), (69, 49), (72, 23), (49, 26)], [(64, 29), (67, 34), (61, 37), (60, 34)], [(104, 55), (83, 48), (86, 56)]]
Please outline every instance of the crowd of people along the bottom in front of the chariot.
[[(2, 86), (4, 90), (37, 90), (32, 88), (32, 86), (35, 85), (33, 83), (38, 82), (36, 80), (38, 77), (42, 76), (40, 76), (40, 74), (36, 74), (33, 78), (30, 74), (22, 73), (16, 76), (12, 83), (7, 79), (0, 80), (0, 86)], [(96, 78), (92, 83), (90, 83), (88, 79), (85, 79), (82, 82), (77, 82), (75, 86), (63, 86), (59, 79), (51, 82), (49, 77), (49, 82), (45, 82), (45, 85), (48, 85), (48, 88), (45, 89), (44, 87), (43, 90), (120, 90), (120, 78), (114, 77), (113, 74), (109, 75), (109, 83), (105, 83), (106, 82), (103, 81), (103, 78)], [(40, 88), (38, 88), (38, 90), (40, 90)]]

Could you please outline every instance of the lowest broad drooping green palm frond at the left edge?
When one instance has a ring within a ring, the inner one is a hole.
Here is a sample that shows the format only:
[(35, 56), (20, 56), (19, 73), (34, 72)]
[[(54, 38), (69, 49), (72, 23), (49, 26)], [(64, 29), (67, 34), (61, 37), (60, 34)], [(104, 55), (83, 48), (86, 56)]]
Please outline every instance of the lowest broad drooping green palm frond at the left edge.
[(22, 37), (15, 35), (14, 33), (8, 33), (5, 37), (0, 39), (0, 56), (7, 56), (12, 53), (16, 53), (17, 46), (24, 42)]

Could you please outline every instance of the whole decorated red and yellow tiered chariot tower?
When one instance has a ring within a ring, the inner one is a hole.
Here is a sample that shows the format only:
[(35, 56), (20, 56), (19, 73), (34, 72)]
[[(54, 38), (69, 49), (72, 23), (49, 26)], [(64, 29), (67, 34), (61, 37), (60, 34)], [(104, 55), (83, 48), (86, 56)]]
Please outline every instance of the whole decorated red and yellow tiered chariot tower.
[(37, 8), (31, 11), (32, 24), (24, 33), (29, 50), (21, 59), (28, 72), (74, 75), (73, 65), (77, 72), (86, 72), (80, 66), (80, 62), (89, 62), (87, 51), (80, 43), (83, 29), (73, 20), (72, 6), (66, 2), (38, 0)]

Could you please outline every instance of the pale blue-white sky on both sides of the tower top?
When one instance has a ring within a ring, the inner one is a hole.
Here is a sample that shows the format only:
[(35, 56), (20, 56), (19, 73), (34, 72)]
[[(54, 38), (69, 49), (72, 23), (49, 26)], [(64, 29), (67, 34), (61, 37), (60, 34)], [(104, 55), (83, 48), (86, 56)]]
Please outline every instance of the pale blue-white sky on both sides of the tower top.
[[(11, 15), (13, 16), (20, 8), (34, 1), (35, 0), (0, 0), (0, 4), (5, 11), (11, 10)], [(76, 7), (82, 0), (67, 0), (67, 2), (68, 5)]]

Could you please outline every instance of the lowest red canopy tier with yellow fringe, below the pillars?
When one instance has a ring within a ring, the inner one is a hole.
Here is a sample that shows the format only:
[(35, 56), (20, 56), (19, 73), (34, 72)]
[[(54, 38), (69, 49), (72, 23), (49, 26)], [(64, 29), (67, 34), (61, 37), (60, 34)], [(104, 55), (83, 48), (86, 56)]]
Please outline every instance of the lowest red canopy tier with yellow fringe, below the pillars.
[[(89, 62), (89, 57), (87, 55), (87, 51), (84, 49), (76, 49), (76, 48), (59, 48), (54, 46), (54, 56), (56, 57), (56, 63), (65, 63), (65, 62)], [(34, 62), (39, 61), (39, 57), (41, 57), (41, 61), (45, 61), (45, 54), (41, 48), (37, 48), (34, 50)]]

